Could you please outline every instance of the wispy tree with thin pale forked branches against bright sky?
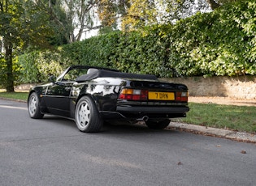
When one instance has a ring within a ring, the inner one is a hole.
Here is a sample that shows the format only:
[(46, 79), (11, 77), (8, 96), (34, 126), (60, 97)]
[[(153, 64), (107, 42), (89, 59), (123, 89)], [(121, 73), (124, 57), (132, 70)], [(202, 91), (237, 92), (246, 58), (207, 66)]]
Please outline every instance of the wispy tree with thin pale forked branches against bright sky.
[(67, 43), (81, 40), (83, 34), (102, 27), (96, 22), (98, 0), (36, 0), (50, 16), (56, 34), (64, 36)]

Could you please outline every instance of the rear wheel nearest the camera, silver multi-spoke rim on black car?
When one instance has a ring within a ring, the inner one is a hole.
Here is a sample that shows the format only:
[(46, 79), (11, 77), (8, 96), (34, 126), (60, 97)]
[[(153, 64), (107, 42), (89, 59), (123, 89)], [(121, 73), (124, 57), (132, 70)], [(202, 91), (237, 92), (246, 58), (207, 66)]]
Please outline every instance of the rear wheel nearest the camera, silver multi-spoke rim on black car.
[(81, 132), (97, 133), (102, 129), (102, 117), (93, 100), (88, 96), (82, 97), (76, 104), (75, 120)]

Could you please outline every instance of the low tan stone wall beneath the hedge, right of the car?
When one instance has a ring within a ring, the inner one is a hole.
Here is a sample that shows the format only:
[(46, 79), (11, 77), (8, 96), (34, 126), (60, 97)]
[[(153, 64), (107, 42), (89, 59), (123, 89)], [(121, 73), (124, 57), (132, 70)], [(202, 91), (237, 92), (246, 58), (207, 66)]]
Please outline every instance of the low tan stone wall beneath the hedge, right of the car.
[(191, 96), (221, 96), (235, 99), (256, 99), (256, 76), (161, 78), (189, 87)]

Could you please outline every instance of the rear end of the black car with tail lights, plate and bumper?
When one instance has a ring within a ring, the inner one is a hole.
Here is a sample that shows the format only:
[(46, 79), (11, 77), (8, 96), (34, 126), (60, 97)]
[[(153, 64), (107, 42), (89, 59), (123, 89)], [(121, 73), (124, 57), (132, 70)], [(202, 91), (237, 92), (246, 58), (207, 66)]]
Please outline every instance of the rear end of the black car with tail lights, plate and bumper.
[(189, 112), (188, 87), (158, 81), (131, 81), (119, 91), (116, 111), (135, 120), (185, 117)]

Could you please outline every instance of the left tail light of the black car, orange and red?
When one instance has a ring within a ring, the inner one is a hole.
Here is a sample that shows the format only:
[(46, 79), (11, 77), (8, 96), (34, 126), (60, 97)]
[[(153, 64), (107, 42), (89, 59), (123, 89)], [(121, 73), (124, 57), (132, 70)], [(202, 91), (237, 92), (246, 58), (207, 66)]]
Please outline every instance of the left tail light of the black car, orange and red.
[(128, 89), (125, 88), (121, 91), (119, 95), (119, 99), (127, 99), (127, 100), (147, 100), (148, 99), (148, 91), (140, 90), (140, 89)]

